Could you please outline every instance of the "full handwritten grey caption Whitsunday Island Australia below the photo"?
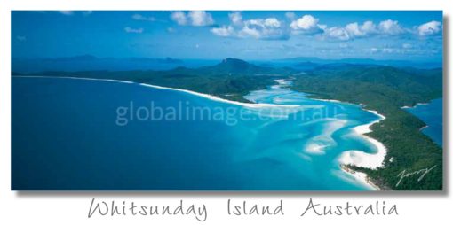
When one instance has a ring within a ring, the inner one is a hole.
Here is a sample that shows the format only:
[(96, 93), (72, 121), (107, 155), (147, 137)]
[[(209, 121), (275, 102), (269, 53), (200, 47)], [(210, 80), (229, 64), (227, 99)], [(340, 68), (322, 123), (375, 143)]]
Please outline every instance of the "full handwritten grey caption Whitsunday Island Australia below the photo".
[[(300, 201), (298, 207), (299, 217), (310, 216), (398, 216), (398, 206), (396, 204), (385, 203), (385, 200), (377, 200), (371, 203), (354, 203), (345, 201), (341, 204), (330, 205), (328, 203), (309, 198)], [(247, 217), (247, 216), (294, 216), (290, 215), (288, 206), (284, 201), (274, 201), (272, 204), (256, 203), (254, 201), (227, 199), (225, 207), (208, 207), (206, 204), (190, 203), (185, 200), (175, 201), (170, 205), (155, 205), (152, 203), (135, 202), (131, 200), (99, 200), (91, 199), (88, 211), (88, 218), (91, 217), (189, 217), (196, 221), (207, 221), (209, 212), (223, 211), (228, 216)], [(286, 213), (285, 213), (286, 212)]]

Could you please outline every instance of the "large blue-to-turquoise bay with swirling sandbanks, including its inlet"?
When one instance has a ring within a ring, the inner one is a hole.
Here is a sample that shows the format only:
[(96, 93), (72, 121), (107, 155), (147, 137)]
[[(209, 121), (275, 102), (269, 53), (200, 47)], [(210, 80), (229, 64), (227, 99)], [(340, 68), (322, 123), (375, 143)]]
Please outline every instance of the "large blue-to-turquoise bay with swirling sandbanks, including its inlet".
[(338, 156), (377, 151), (352, 131), (376, 115), (284, 84), (247, 98), (292, 106), (13, 77), (12, 190), (368, 190), (340, 170)]

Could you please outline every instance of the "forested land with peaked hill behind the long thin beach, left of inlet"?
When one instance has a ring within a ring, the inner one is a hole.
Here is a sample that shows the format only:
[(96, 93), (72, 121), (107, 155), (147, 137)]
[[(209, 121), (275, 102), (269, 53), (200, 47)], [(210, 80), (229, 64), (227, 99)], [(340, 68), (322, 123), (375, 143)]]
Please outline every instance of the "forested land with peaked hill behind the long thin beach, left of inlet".
[(296, 72), (285, 68), (254, 66), (245, 61), (227, 58), (216, 66), (197, 69), (178, 67), (168, 71), (83, 71), (43, 72), (38, 76), (68, 76), (81, 78), (113, 79), (154, 84), (164, 87), (189, 89), (229, 100), (249, 102), (243, 96), (250, 90), (266, 89), (274, 79)]

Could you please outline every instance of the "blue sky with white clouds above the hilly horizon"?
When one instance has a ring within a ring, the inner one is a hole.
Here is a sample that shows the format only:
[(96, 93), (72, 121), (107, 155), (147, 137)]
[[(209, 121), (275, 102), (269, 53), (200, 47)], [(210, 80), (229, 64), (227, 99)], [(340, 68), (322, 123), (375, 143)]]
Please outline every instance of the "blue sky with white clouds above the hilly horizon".
[(12, 57), (438, 61), (441, 12), (12, 12)]

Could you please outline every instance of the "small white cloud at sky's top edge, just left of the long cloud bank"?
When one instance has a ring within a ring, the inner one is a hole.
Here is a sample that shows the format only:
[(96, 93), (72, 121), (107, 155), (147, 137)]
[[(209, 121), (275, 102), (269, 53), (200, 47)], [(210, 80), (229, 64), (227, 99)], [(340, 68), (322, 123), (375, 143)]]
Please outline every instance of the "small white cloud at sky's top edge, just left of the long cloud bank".
[(181, 11), (171, 12), (170, 18), (181, 26), (205, 27), (214, 24), (211, 13), (204, 11), (191, 11), (188, 13)]

